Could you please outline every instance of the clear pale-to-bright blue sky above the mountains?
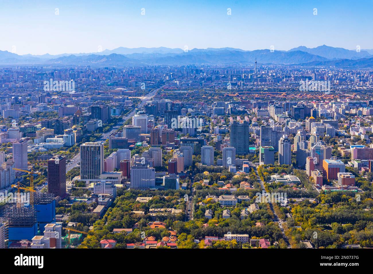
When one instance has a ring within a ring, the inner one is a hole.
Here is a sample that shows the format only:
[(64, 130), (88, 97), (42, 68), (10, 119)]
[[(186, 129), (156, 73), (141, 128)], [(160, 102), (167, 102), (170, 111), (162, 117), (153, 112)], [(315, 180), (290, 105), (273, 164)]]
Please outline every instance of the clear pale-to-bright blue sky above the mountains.
[(323, 44), (372, 49), (372, 6), (373, 0), (0, 0), (0, 50), (22, 55)]

